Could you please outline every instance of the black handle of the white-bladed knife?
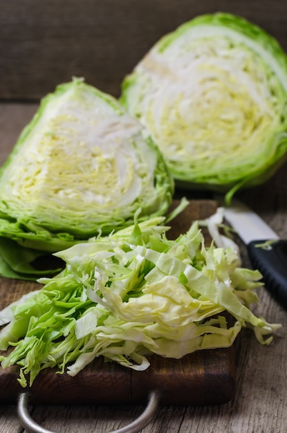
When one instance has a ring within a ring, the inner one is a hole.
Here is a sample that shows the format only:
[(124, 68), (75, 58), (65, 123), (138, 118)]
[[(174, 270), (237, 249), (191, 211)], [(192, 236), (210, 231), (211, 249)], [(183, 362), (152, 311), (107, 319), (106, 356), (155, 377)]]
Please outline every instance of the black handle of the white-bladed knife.
[(247, 246), (254, 269), (279, 304), (287, 307), (287, 240), (252, 241)]

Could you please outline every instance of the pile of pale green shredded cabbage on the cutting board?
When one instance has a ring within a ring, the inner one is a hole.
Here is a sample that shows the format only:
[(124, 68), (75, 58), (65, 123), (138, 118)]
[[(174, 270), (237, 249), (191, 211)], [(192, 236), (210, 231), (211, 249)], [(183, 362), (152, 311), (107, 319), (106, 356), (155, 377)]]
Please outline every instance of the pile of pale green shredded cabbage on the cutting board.
[[(56, 255), (66, 268), (0, 313), (5, 369), (19, 365), (19, 383), (41, 369), (75, 376), (98, 356), (144, 370), (149, 355), (181, 358), (230, 347), (243, 326), (269, 344), (280, 325), (250, 311), (261, 286), (257, 270), (240, 267), (234, 248), (206, 247), (198, 221), (176, 240), (156, 217), (91, 239)], [(234, 320), (226, 320), (228, 311)], [(268, 336), (266, 336), (268, 335)]]

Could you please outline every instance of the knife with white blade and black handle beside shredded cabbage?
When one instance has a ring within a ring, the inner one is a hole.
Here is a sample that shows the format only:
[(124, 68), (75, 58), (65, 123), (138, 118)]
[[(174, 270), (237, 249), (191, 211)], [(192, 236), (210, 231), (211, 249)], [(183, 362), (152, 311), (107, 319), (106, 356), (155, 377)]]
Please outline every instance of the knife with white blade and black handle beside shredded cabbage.
[(263, 282), (273, 297), (287, 307), (287, 240), (241, 201), (223, 206), (225, 220), (246, 244), (250, 262), (260, 271)]

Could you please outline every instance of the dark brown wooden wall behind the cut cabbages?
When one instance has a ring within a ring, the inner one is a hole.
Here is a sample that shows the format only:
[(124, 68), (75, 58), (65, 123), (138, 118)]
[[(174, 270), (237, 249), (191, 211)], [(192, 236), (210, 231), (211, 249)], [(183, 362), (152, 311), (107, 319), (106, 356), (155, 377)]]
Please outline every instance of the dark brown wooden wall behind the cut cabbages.
[(39, 99), (73, 75), (118, 96), (124, 75), (163, 35), (232, 12), (287, 50), (285, 0), (0, 0), (0, 99)]

